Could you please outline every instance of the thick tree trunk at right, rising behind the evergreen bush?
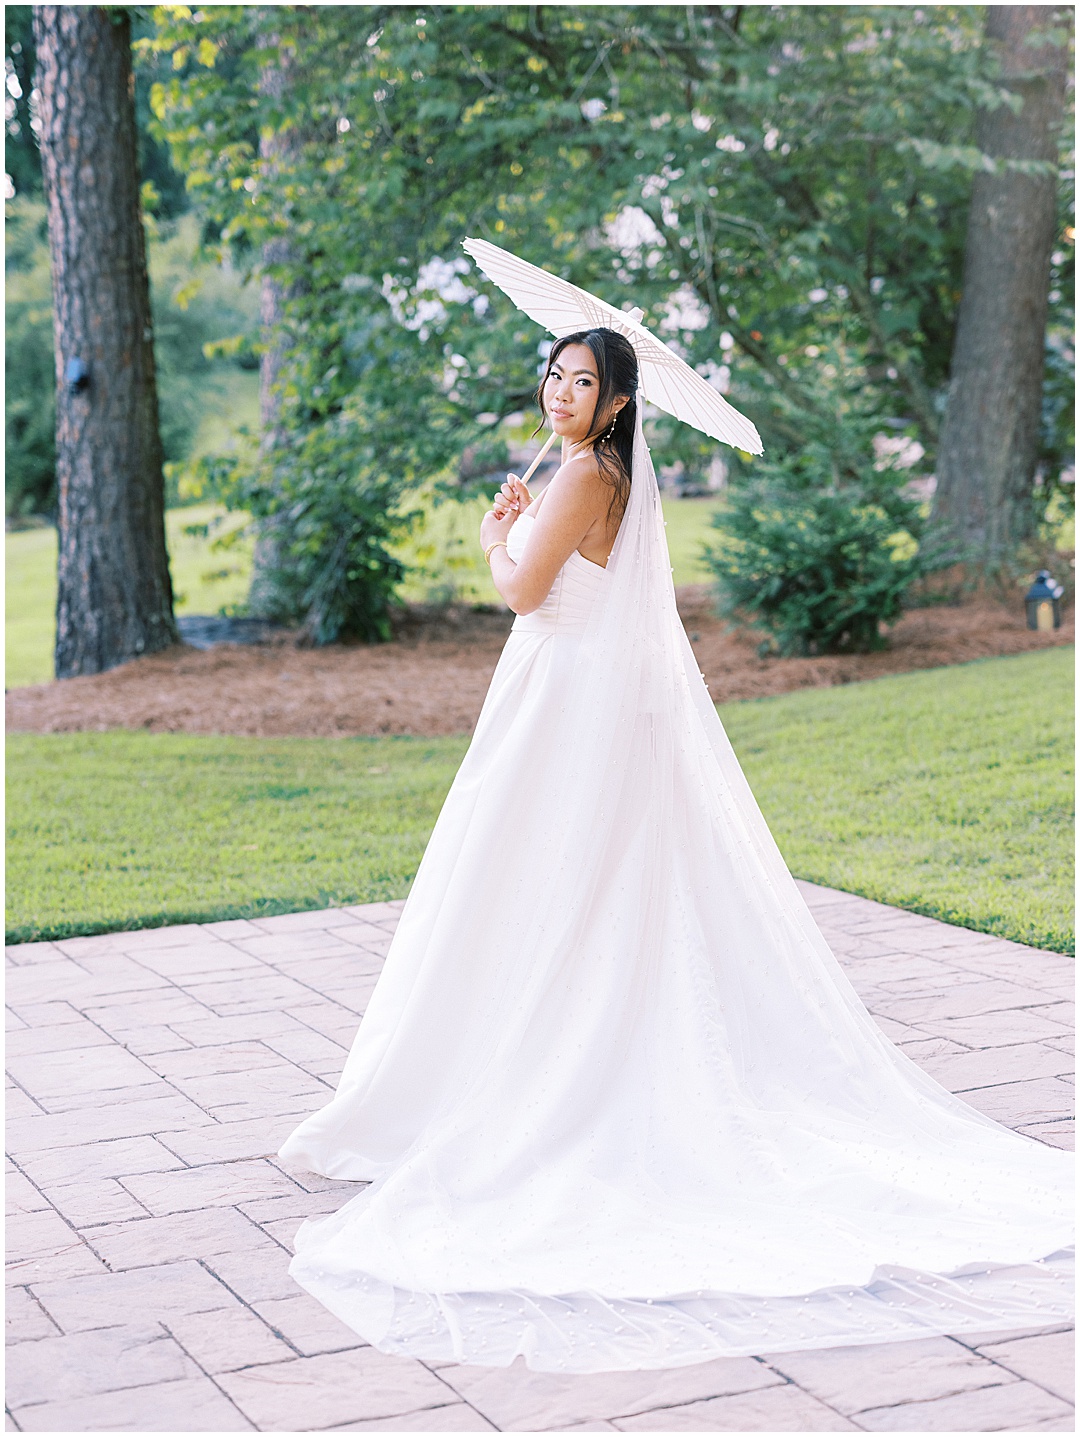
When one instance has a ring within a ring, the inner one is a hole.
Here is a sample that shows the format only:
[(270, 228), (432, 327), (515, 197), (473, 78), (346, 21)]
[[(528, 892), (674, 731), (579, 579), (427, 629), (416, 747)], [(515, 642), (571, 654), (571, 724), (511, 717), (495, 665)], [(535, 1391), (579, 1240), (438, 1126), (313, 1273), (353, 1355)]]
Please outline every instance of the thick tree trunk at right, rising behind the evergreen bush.
[[(1050, 6), (988, 6), (1001, 83), (1020, 96), (979, 112), (977, 142), (995, 160), (1058, 162), (1069, 47), (1025, 43), (1069, 24)], [(995, 568), (1035, 527), (1034, 477), (1056, 230), (1054, 175), (977, 174), (964, 254), (934, 522), (958, 555)]]

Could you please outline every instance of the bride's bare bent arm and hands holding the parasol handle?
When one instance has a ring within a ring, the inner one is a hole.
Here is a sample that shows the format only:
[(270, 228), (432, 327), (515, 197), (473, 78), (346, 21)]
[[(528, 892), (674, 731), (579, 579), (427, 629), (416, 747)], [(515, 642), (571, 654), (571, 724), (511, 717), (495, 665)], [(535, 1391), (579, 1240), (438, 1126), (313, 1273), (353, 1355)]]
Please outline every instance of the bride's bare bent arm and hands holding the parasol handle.
[[(506, 549), (491, 550), (491, 578), (514, 614), (531, 614), (551, 592), (556, 575), (585, 536), (608, 517), (610, 489), (603, 483), (590, 454), (564, 464), (544, 490), (533, 535), (520, 563)], [(497, 519), (484, 514), (480, 542), (487, 549), (506, 543), (517, 514)]]

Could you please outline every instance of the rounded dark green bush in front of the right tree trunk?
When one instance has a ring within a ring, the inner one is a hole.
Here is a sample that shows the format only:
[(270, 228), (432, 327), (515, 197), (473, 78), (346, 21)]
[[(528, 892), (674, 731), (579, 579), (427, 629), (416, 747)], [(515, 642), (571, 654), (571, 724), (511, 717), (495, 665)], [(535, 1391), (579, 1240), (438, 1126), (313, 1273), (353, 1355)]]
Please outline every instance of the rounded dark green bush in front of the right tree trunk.
[[(869, 448), (869, 445), (867, 445)], [(768, 629), (781, 654), (882, 648), (908, 586), (938, 560), (905, 479), (837, 441), (755, 461), (714, 517), (707, 562), (722, 612)]]

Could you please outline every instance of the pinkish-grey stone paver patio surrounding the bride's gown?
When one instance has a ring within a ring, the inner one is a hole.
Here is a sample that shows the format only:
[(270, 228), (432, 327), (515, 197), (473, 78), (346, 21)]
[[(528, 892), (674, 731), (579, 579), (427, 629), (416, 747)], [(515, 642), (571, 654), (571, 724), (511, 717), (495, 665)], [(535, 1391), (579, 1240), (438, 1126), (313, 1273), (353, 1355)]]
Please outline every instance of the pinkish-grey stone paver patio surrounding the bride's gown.
[[(803, 890), (895, 1042), (1071, 1147), (1071, 960)], [(355, 1184), (274, 1152), (335, 1086), (399, 907), (9, 950), (9, 1428), (1073, 1431), (1063, 1328), (595, 1377), (365, 1346), (286, 1270)]]

